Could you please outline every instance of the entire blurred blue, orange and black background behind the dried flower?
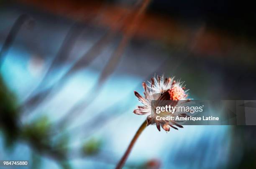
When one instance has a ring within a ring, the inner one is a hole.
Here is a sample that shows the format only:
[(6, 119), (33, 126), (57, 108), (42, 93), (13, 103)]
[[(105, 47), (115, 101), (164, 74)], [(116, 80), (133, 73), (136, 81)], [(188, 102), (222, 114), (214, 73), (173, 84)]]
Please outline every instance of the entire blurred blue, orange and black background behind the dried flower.
[[(256, 100), (256, 13), (223, 0), (0, 0), (0, 159), (114, 168), (176, 76), (196, 100)], [(148, 126), (125, 168), (256, 168), (254, 126)]]

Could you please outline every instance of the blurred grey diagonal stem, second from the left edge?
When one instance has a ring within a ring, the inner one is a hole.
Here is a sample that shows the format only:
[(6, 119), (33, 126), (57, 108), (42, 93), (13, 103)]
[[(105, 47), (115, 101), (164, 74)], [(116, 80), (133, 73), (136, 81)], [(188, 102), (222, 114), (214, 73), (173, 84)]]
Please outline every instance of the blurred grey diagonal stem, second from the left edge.
[[(47, 78), (49, 78), (49, 75), (52, 73), (54, 68), (56, 66), (59, 66), (61, 63), (66, 63), (68, 61), (69, 54), (74, 47), (74, 43), (79, 37), (79, 35), (82, 33), (82, 25), (79, 23), (75, 23), (68, 31), (61, 48), (54, 58), (54, 60), (51, 62), (51, 65), (49, 66), (48, 70), (46, 71), (44, 77), (42, 78), (41, 82), (38, 84), (38, 86), (31, 92), (31, 95), (28, 96), (28, 98), (22, 103), (22, 105), (19, 107), (19, 110), (22, 110), (24, 107), (26, 107), (29, 104), (36, 105), (41, 102), (41, 97), (46, 96), (46, 92), (40, 92), (39, 94), (35, 94), (38, 90), (40, 90), (47, 81)], [(64, 64), (61, 64), (64, 66)]]

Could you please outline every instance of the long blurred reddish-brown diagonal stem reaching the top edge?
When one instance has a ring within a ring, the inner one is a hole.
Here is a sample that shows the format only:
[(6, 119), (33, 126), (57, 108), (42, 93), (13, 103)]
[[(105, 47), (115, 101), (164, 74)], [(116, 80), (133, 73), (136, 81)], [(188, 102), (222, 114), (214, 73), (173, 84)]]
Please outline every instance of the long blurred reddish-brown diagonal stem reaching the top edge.
[[(100, 88), (103, 86), (105, 81), (108, 79), (108, 77), (113, 73), (115, 68), (117, 68), (118, 63), (120, 61), (120, 58), (124, 52), (124, 49), (126, 45), (128, 44), (129, 40), (132, 38), (133, 33), (136, 29), (136, 25), (138, 24), (138, 21), (141, 18), (141, 14), (143, 14), (149, 4), (150, 0), (143, 0), (141, 5), (138, 6), (138, 8), (135, 8), (134, 15), (132, 15), (132, 22), (130, 26), (127, 28), (125, 31), (125, 34), (118, 45), (117, 50), (113, 53), (111, 56), (110, 60), (108, 61), (107, 65), (103, 69), (100, 78), (98, 79), (97, 85), (93, 87), (87, 95), (82, 98), (79, 103), (77, 103), (75, 106), (73, 106), (67, 113), (67, 115), (60, 120), (59, 122), (59, 127), (62, 128), (64, 127), (65, 124), (68, 123), (70, 119), (74, 116), (79, 116), (79, 114), (82, 113), (82, 110), (86, 108), (88, 105), (90, 105), (98, 96), (100, 92)], [(90, 96), (90, 97), (88, 97)]]

